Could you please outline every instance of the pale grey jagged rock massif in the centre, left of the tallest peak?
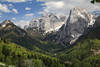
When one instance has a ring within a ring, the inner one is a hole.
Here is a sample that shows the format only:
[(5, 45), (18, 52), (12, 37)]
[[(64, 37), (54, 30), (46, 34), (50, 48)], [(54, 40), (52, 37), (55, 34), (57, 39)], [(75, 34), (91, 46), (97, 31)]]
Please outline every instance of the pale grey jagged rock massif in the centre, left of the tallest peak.
[(33, 19), (27, 29), (42, 33), (57, 31), (64, 24), (65, 18), (65, 16), (46, 14), (40, 18)]

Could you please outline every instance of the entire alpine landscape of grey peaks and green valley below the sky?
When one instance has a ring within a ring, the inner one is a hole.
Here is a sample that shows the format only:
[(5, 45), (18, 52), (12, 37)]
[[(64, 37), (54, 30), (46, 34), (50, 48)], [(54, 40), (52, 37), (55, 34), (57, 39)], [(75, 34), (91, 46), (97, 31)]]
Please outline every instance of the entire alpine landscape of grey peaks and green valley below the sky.
[(44, 14), (24, 29), (0, 24), (0, 67), (100, 67), (100, 15), (73, 8)]

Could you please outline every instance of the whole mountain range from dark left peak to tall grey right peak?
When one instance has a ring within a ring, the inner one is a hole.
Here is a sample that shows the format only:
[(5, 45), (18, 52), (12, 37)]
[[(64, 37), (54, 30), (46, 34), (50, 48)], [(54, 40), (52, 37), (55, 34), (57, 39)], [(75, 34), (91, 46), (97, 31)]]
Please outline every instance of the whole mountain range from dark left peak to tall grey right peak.
[[(25, 30), (17, 27), (10, 20), (5, 20), (1, 23), (0, 34), (3, 38), (5, 34), (5, 37), (8, 37), (8, 33), (14, 34), (14, 36), (16, 34), (16, 36), (26, 39), (26, 42), (29, 39), (31, 46), (34, 43), (32, 41), (36, 42), (34, 38), (39, 36), (57, 44), (69, 46), (94, 28), (95, 18), (95, 15), (85, 9), (74, 8), (70, 11), (68, 19), (66, 19), (66, 16), (57, 16), (52, 13), (43, 15), (40, 18), (33, 19), (28, 26), (24, 27)], [(20, 38), (18, 39), (16, 43), (19, 43)], [(13, 39), (13, 41), (15, 40)]]

